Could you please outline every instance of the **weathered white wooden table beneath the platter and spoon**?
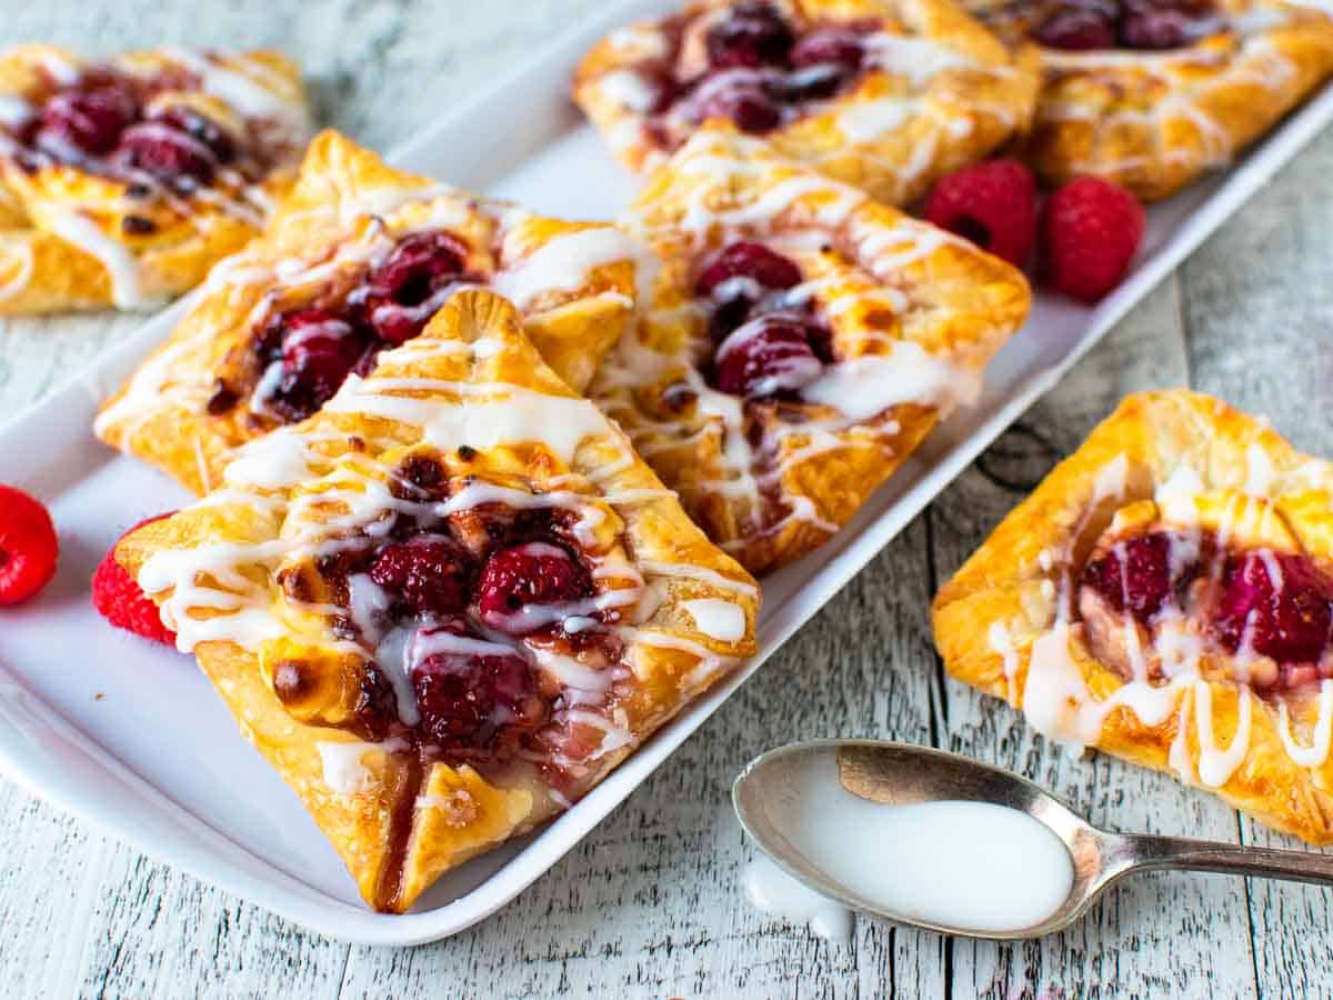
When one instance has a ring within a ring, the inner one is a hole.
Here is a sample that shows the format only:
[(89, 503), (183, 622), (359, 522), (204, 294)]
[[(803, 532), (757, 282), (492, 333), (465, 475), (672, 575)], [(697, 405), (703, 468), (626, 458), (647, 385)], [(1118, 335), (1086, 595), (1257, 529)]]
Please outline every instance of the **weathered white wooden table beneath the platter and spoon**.
[[(45, 0), (0, 41), (85, 51), (281, 45), (323, 117), (409, 136), (597, 0)], [(524, 128), (500, 121), (497, 128)], [(749, 757), (800, 737), (914, 740), (1013, 767), (1094, 823), (1284, 844), (1209, 796), (1074, 760), (948, 680), (926, 608), (994, 523), (1128, 391), (1190, 384), (1333, 455), (1333, 135), (1306, 149), (1026, 413), (680, 752), (515, 903), (416, 949), (309, 935), (0, 783), (0, 996), (1313, 996), (1333, 989), (1329, 895), (1146, 876), (1078, 928), (997, 947), (861, 921), (849, 944), (744, 900), (728, 804)], [(0, 327), (0, 419), (139, 320)], [(69, 669), (81, 669), (71, 663)]]

